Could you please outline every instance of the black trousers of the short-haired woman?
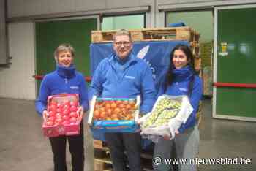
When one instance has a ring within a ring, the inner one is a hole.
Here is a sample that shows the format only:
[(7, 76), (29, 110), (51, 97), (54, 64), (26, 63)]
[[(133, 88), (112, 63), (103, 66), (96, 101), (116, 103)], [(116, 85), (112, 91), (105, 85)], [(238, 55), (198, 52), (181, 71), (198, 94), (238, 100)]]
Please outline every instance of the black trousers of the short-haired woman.
[(83, 171), (83, 123), (80, 124), (80, 134), (72, 136), (50, 137), (53, 151), (54, 171), (67, 171), (66, 143), (69, 142), (69, 151), (72, 159), (72, 171)]

